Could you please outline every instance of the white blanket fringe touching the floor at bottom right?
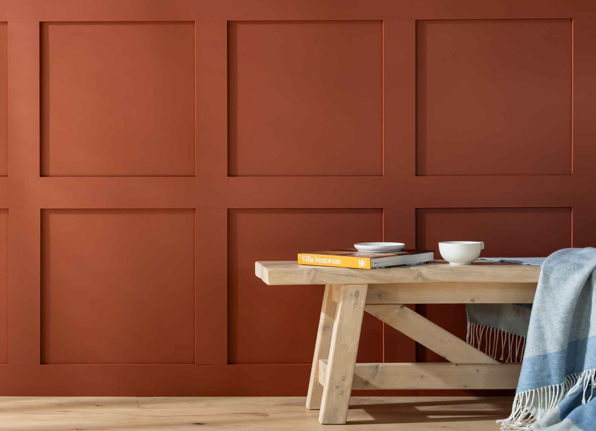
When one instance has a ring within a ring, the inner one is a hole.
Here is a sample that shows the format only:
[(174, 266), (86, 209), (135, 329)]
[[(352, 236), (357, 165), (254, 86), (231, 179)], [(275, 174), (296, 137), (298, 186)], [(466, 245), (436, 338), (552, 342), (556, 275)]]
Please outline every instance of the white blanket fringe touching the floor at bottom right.
[(583, 389), (582, 404), (591, 401), (595, 383), (596, 369), (567, 375), (565, 381), (560, 384), (519, 392), (513, 400), (511, 415), (507, 419), (498, 420), (497, 423), (501, 424), (501, 431), (531, 431), (536, 420), (544, 417), (563, 398), (578, 388)]

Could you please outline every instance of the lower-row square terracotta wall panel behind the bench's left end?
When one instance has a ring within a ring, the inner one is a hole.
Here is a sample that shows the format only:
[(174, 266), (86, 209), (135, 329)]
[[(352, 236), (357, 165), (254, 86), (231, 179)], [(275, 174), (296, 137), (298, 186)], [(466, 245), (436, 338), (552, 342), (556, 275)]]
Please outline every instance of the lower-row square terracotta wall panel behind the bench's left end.
[[(381, 241), (380, 209), (229, 210), (228, 362), (310, 364), (322, 286), (268, 286), (257, 260), (296, 260), (304, 251)], [(383, 324), (364, 315), (359, 362), (383, 360)]]

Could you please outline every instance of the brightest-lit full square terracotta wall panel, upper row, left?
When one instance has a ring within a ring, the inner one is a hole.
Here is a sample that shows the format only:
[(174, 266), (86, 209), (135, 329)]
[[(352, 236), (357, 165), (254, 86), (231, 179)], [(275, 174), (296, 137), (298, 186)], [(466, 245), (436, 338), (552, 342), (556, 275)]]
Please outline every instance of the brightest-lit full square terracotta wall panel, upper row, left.
[(42, 176), (193, 176), (193, 22), (41, 24)]

